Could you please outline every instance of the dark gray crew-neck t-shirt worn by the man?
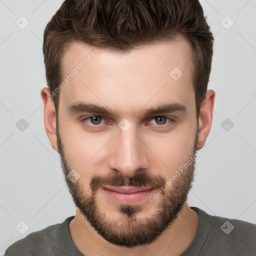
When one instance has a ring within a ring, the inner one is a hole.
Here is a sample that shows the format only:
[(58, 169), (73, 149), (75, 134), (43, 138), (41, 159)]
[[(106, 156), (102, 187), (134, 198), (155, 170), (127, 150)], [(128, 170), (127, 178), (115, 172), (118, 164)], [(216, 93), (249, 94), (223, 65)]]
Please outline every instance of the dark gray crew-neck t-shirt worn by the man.
[[(255, 224), (212, 216), (197, 207), (190, 208), (199, 216), (199, 227), (193, 242), (181, 256), (256, 255)], [(68, 229), (72, 218), (74, 216), (66, 218), (62, 223), (28, 234), (11, 244), (4, 256), (83, 256), (75, 246)]]

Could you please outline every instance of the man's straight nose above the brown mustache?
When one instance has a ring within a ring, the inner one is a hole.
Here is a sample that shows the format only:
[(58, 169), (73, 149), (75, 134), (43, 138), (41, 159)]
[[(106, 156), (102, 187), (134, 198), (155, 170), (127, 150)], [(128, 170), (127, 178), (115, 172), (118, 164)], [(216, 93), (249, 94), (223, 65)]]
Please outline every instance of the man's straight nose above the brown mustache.
[(111, 141), (109, 167), (131, 177), (137, 170), (148, 169), (149, 160), (143, 140), (132, 126), (123, 131), (120, 128)]

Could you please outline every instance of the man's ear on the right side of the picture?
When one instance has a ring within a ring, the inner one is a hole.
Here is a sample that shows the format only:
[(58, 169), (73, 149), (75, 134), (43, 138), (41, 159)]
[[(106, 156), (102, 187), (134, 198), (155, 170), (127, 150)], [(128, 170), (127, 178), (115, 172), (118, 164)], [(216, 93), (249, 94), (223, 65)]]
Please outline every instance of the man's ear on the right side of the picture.
[(201, 103), (199, 117), (198, 117), (198, 143), (197, 150), (201, 149), (210, 132), (213, 107), (214, 107), (215, 92), (207, 90), (205, 98)]

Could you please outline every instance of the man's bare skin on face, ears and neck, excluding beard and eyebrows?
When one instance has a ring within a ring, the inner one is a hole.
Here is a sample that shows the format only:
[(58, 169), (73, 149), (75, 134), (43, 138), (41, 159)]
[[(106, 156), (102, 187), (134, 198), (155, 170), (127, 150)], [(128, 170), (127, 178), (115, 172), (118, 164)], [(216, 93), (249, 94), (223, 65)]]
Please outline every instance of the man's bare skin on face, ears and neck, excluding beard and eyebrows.
[[(71, 43), (62, 58), (63, 74), (72, 72), (83, 56), (94, 49), (81, 42)], [(197, 122), (196, 149), (200, 149), (212, 121), (213, 90), (207, 90), (196, 119), (189, 43), (177, 35), (175, 40), (143, 45), (128, 54), (97, 49), (95, 57), (59, 92), (58, 128), (68, 167), (80, 174), (78, 182), (82, 184), (84, 196), (91, 193), (89, 182), (95, 173), (102, 176), (117, 170), (125, 177), (132, 177), (143, 169), (167, 180), (191, 156)], [(175, 66), (183, 72), (176, 81), (169, 75)], [(44, 125), (52, 148), (57, 150), (56, 112), (52, 99), (47, 97), (49, 93), (46, 87), (41, 90)], [(118, 111), (118, 115), (100, 115), (104, 119), (99, 128), (90, 128), (86, 126), (86, 123), (93, 125), (89, 119), (82, 123), (79, 118), (97, 114), (74, 113), (67, 109), (77, 101), (107, 106)], [(186, 111), (160, 114), (175, 118), (169, 126), (168, 119), (166, 124), (157, 124), (153, 118), (157, 114), (149, 117), (136, 114), (139, 110), (173, 102), (185, 105)], [(123, 118), (131, 124), (125, 132), (118, 127)], [(105, 212), (108, 221), (123, 215), (115, 202), (102, 196), (101, 191), (97, 191), (97, 208)], [(156, 213), (162, 198), (154, 203), (143, 201), (143, 209), (135, 213), (136, 218), (144, 220)], [(78, 208), (69, 230), (75, 245), (85, 255), (180, 255), (195, 238), (198, 224), (198, 215), (185, 202), (175, 221), (157, 239), (141, 246), (128, 248), (107, 242)]]

